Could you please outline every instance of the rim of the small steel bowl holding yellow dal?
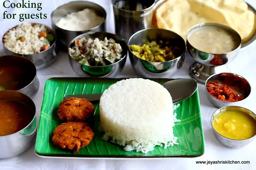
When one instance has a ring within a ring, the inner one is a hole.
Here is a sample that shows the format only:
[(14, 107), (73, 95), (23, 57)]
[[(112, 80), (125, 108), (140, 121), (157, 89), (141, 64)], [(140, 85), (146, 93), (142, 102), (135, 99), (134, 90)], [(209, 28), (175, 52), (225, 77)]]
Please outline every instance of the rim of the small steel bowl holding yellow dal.
[[(249, 112), (251, 112), (251, 113), (253, 113), (255, 116), (256, 116), (256, 114), (254, 113), (254, 112), (252, 112), (251, 110), (249, 110), (249, 109), (246, 109), (245, 107), (241, 107), (241, 106), (225, 106), (225, 107), (221, 107), (221, 108), (219, 108), (219, 109), (217, 109), (216, 111), (214, 111), (213, 113), (212, 113), (212, 116), (211, 116), (211, 119), (210, 119), (210, 121), (211, 121), (211, 125), (212, 125), (212, 129), (216, 132), (216, 133), (218, 133), (215, 129), (214, 129), (214, 127), (213, 127), (213, 124), (212, 124), (212, 119), (213, 119), (213, 115), (214, 115), (214, 113), (216, 113), (216, 112), (220, 112), (220, 110), (221, 109), (225, 109), (225, 108), (228, 108), (228, 107), (239, 107), (239, 108), (242, 108), (242, 109), (245, 109), (245, 110), (247, 110), (247, 111), (249, 111)], [(231, 110), (231, 109), (230, 109)], [(232, 109), (232, 110), (237, 110), (237, 109)], [(242, 111), (243, 113), (244, 113), (244, 111)], [(220, 115), (221, 113), (223, 113), (223, 112), (220, 112), (220, 113), (218, 113), (217, 115)], [(245, 113), (245, 114), (247, 114), (247, 113)], [(216, 115), (216, 116), (217, 116)], [(249, 115), (249, 114), (247, 114), (247, 115)], [(252, 117), (252, 116), (250, 116), (250, 117)], [(253, 117), (252, 117), (253, 118)], [(254, 119), (254, 118), (253, 118)], [(213, 119), (214, 120), (214, 119)], [(255, 120), (255, 119), (254, 119)], [(256, 120), (255, 120), (256, 121)], [(218, 133), (218, 135), (220, 135), (220, 133)], [(224, 137), (223, 135), (220, 135), (222, 138), (224, 138), (225, 140), (228, 140), (228, 141), (247, 141), (247, 140), (250, 140), (250, 139), (252, 139), (252, 138), (254, 138), (254, 137), (256, 137), (256, 134), (254, 135), (254, 136), (252, 136), (252, 137), (250, 137), (250, 138), (248, 138), (248, 139), (230, 139), (230, 138), (227, 138), (227, 137)]]

